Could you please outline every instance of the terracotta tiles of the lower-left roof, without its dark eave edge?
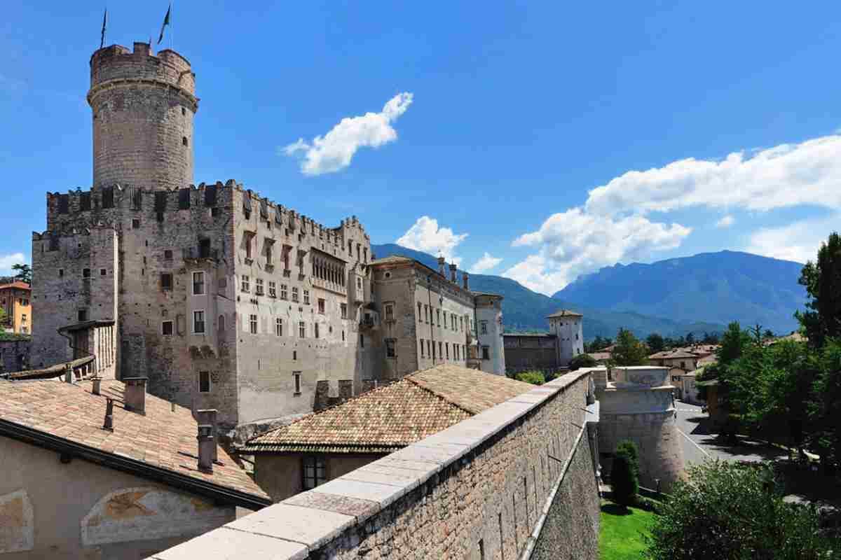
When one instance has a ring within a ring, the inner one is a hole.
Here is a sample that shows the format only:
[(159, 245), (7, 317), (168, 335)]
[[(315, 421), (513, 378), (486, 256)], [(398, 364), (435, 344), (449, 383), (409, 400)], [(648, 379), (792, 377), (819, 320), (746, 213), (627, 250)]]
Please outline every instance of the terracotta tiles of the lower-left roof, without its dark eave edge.
[[(268, 496), (222, 447), (213, 474), (198, 470), (198, 427), (189, 409), (153, 395), (145, 397), (145, 416), (123, 407), (124, 385), (103, 379), (102, 395), (91, 381), (69, 384), (56, 379), (0, 380), (0, 421), (28, 427), (69, 442), (132, 458), (186, 475), (204, 484), (233, 489), (264, 500)], [(103, 430), (106, 396), (114, 399), (114, 432)], [(268, 503), (268, 502), (267, 502)]]

